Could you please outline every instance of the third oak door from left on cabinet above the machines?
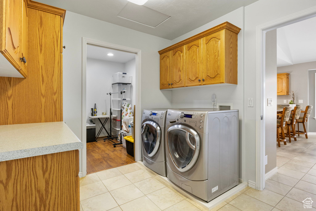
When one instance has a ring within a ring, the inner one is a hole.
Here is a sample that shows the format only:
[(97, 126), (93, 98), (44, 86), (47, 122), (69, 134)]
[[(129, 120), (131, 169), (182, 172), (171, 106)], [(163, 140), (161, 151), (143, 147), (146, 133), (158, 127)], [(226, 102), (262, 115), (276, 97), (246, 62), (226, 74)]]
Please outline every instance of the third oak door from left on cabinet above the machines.
[(185, 45), (185, 86), (202, 84), (202, 39)]

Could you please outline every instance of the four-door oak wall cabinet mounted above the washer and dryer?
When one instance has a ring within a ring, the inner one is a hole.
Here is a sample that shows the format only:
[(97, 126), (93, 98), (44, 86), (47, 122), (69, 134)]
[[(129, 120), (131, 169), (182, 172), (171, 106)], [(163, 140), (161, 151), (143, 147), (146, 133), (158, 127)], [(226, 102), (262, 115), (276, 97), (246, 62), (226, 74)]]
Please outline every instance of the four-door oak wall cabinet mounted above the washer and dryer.
[[(167, 76), (161, 77), (160, 89), (208, 84), (237, 84), (239, 32), (240, 28), (224, 22), (159, 51), (161, 59), (161, 55), (171, 52), (171, 68), (166, 66), (170, 63), (160, 62), (160, 71), (165, 74), (168, 69), (171, 75), (169, 80), (172, 81), (166, 86)], [(173, 56), (176, 54), (177, 56)], [(181, 64), (184, 64), (182, 68), (179, 68), (179, 59), (181, 59)], [(164, 74), (160, 73), (161, 76)], [(174, 80), (175, 78), (177, 80)], [(180, 81), (183, 82), (180, 83)]]

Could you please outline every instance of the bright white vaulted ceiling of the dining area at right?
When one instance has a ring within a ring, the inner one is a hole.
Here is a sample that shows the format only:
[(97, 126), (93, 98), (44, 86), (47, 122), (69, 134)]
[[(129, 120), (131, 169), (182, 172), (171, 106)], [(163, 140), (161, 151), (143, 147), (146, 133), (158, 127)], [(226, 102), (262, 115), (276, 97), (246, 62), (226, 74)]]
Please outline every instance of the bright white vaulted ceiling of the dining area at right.
[(277, 29), (277, 66), (316, 61), (316, 17)]

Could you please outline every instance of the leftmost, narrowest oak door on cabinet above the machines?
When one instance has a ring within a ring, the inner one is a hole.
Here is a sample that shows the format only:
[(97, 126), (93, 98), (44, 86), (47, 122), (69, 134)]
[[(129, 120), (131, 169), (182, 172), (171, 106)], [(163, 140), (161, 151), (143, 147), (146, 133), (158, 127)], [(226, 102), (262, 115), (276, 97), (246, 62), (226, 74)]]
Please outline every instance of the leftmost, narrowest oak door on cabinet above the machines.
[(160, 89), (171, 88), (171, 51), (160, 55)]

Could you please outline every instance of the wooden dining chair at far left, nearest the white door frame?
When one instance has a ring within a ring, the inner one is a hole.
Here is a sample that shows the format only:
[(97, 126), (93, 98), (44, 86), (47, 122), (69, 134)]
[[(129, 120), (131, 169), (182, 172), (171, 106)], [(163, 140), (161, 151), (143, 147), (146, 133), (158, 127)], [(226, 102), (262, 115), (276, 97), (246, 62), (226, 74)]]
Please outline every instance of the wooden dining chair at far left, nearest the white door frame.
[[(291, 114), (291, 107), (284, 107), (282, 114), (277, 114), (278, 119), (276, 119), (276, 141), (278, 146), (281, 147), (280, 142), (283, 141), (283, 144), (286, 145), (286, 139), (284, 134), (284, 128), (286, 122), (289, 121)], [(281, 130), (281, 134), (279, 132)]]

